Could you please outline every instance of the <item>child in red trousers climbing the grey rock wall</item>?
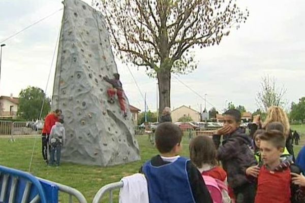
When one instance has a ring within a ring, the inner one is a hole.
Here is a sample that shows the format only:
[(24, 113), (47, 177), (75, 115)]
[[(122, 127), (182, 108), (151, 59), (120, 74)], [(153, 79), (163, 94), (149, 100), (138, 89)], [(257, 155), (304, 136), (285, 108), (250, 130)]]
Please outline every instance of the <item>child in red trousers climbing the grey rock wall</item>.
[(110, 104), (114, 104), (114, 96), (116, 94), (117, 98), (118, 98), (118, 103), (119, 103), (120, 109), (123, 112), (123, 116), (127, 117), (126, 108), (125, 108), (125, 98), (123, 96), (124, 95), (123, 85), (119, 80), (118, 73), (113, 74), (113, 76), (114, 76), (114, 79), (109, 79), (108, 76), (104, 77), (104, 80), (112, 85), (112, 88), (109, 88), (107, 90), (107, 94), (109, 96), (108, 102)]

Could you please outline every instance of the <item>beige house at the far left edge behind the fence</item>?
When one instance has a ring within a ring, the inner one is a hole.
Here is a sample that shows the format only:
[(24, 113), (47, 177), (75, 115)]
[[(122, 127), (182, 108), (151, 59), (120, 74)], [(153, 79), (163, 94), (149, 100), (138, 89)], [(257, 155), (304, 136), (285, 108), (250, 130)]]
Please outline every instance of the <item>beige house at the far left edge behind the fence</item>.
[(11, 96), (0, 96), (0, 117), (1, 118), (16, 118), (18, 105), (19, 105), (19, 98)]

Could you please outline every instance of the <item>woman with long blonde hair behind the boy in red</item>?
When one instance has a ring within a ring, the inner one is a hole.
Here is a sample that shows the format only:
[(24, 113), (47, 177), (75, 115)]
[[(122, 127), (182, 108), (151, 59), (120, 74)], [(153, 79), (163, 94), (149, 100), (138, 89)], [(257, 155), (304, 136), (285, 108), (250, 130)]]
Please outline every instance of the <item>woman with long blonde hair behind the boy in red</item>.
[(266, 125), (271, 122), (281, 122), (284, 125), (284, 136), (286, 137), (286, 148), (290, 155), (294, 158), (293, 152), (293, 143), (292, 143), (292, 133), (290, 131), (289, 120), (281, 107), (272, 106), (268, 109), (267, 117), (264, 123), (260, 120), (260, 115), (254, 116), (252, 125), (249, 126), (250, 136), (253, 137), (253, 134), (257, 129), (265, 129)]

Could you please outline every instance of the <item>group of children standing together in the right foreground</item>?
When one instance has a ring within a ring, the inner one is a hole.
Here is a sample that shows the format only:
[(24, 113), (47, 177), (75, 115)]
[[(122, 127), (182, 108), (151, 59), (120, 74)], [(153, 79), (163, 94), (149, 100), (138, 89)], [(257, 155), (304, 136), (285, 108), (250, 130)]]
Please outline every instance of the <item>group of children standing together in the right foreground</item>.
[(149, 202), (305, 202), (305, 178), (285, 150), (284, 126), (271, 122), (252, 140), (239, 128), (240, 119), (239, 111), (226, 111), (224, 127), (213, 139), (198, 136), (191, 141), (190, 160), (179, 156), (179, 127), (160, 124), (155, 133), (160, 155), (140, 170)]

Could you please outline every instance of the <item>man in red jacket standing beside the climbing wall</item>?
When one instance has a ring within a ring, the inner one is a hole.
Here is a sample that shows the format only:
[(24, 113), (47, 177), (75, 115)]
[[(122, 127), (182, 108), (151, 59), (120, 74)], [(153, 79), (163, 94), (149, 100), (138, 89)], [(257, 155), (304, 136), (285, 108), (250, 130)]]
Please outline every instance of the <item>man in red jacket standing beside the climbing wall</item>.
[(47, 149), (49, 143), (49, 134), (51, 133), (52, 126), (55, 125), (55, 122), (59, 121), (59, 117), (61, 115), (62, 115), (62, 110), (56, 109), (54, 112), (48, 114), (45, 118), (41, 139), (42, 139), (42, 156), (47, 164), (48, 164)]

